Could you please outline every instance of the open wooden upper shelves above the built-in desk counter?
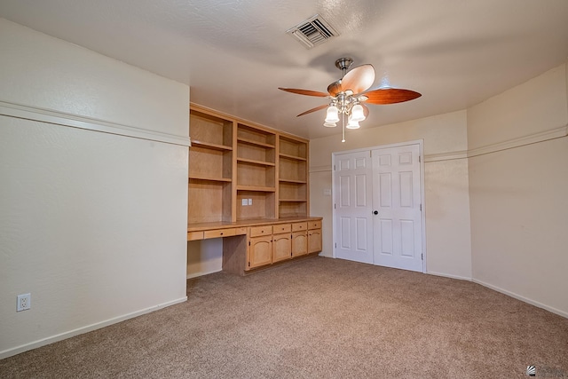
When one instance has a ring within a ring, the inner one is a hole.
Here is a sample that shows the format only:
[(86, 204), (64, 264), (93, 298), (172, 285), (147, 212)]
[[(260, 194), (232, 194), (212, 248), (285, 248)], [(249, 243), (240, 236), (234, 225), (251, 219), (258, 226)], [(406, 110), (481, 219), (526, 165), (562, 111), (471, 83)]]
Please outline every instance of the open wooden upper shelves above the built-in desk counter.
[(188, 223), (308, 217), (308, 141), (191, 105)]

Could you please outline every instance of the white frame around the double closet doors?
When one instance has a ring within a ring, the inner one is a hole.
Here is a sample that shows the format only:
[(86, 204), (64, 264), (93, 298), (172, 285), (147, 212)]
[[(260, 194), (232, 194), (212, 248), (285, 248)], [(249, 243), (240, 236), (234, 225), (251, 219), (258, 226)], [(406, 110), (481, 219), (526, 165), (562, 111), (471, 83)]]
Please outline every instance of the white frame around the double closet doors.
[(400, 146), (408, 146), (408, 145), (418, 145), (419, 147), (419, 156), (420, 156), (420, 197), (421, 197), (421, 204), (422, 204), (422, 211), (420, 212), (420, 217), (421, 217), (421, 221), (422, 221), (422, 272), (427, 272), (427, 267), (426, 267), (426, 261), (427, 261), (427, 251), (426, 251), (426, 204), (425, 204), (425, 196), (424, 196), (424, 140), (423, 139), (415, 139), (412, 141), (406, 141), (406, 142), (398, 142), (398, 143), (394, 143), (394, 144), (388, 144), (388, 145), (379, 145), (379, 146), (370, 146), (370, 147), (362, 147), (359, 149), (353, 149), (353, 150), (342, 150), (342, 151), (338, 151), (338, 152), (333, 152), (331, 154), (331, 198), (332, 198), (332, 202), (333, 202), (333, 208), (332, 210), (332, 219), (331, 219), (331, 227), (332, 227), (332, 231), (334, 231), (333, 236), (334, 236), (334, 241), (333, 241), (333, 257), (336, 258), (336, 246), (337, 246), (337, 241), (336, 241), (336, 235), (335, 235), (335, 194), (337, 189), (335, 188), (335, 161), (336, 161), (336, 157), (337, 155), (342, 155), (342, 154), (351, 154), (351, 153), (360, 153), (360, 152), (365, 152), (368, 151), (369, 152), (369, 156), (371, 154), (372, 150), (375, 149), (382, 149), (382, 148), (388, 148), (388, 147), (400, 147)]

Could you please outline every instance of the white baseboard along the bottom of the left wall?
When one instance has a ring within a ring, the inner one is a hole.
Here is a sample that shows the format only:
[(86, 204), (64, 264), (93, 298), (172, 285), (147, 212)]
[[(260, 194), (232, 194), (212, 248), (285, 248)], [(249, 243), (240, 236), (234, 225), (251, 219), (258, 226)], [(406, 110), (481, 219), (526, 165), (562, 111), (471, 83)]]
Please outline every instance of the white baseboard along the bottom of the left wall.
[(128, 313), (128, 314), (125, 314), (125, 315), (122, 315), (122, 316), (119, 316), (119, 317), (114, 317), (113, 319), (97, 322), (95, 324), (91, 324), (91, 325), (88, 325), (88, 326), (83, 327), (83, 328), (76, 328), (74, 330), (69, 330), (68, 332), (61, 333), (61, 334), (56, 335), (56, 336), (46, 337), (46, 338), (43, 338), (41, 340), (37, 340), (37, 341), (32, 342), (32, 343), (25, 343), (25, 344), (22, 344), (20, 346), (14, 347), (12, 349), (0, 351), (0, 359), (12, 357), (12, 355), (20, 354), (20, 352), (36, 349), (38, 347), (45, 346), (46, 344), (56, 343), (56, 342), (62, 341), (64, 339), (73, 337), (73, 336), (83, 335), (83, 333), (91, 332), (93, 330), (97, 330), (97, 329), (100, 329), (100, 328), (105, 328), (105, 327), (108, 327), (109, 325), (113, 325), (113, 324), (116, 324), (116, 323), (124, 321), (124, 320), (133, 319), (135, 317), (141, 316), (141, 315), (146, 314), (146, 313), (157, 311), (159, 309), (168, 307), (170, 305), (184, 303), (185, 301), (187, 301), (187, 296), (181, 297), (177, 300), (172, 300), (172, 301), (167, 302), (167, 303), (154, 305), (154, 306), (151, 306), (149, 308), (146, 308), (146, 309), (143, 309), (143, 310), (140, 310), (140, 311), (137, 311), (137, 312), (132, 312), (132, 313)]

